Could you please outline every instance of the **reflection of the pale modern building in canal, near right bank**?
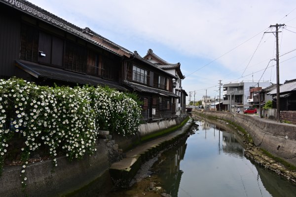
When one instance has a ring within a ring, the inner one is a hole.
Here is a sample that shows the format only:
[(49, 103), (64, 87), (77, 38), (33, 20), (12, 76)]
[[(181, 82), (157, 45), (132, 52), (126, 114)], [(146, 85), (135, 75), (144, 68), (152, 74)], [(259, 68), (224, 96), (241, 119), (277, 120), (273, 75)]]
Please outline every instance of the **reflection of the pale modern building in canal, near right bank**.
[(234, 133), (222, 131), (222, 150), (226, 154), (244, 157), (244, 148), (236, 140)]

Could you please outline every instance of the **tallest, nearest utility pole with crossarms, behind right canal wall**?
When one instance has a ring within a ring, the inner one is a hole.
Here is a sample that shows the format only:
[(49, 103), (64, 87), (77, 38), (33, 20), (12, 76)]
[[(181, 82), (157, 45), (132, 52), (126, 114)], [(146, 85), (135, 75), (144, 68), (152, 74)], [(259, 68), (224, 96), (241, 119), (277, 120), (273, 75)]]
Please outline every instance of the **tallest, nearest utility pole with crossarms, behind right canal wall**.
[[(285, 24), (270, 25), (269, 27), (275, 27), (276, 37), (276, 122), (281, 120), (280, 112), (280, 71), (279, 71), (279, 27), (285, 26)], [(268, 32), (274, 33), (274, 32)]]

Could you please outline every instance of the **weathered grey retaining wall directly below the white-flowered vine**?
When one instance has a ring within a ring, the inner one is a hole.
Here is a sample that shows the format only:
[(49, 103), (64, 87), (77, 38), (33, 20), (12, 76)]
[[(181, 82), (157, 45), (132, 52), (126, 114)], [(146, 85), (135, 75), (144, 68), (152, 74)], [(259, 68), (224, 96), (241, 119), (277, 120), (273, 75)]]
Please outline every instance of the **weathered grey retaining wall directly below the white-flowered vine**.
[[(53, 167), (51, 160), (28, 164), (25, 175), (26, 193), (29, 197), (61, 196), (77, 190), (100, 177), (109, 168), (108, 149), (103, 139), (97, 151), (81, 161), (69, 162), (68, 158), (57, 159)], [(0, 176), (0, 197), (24, 197), (21, 184), (21, 166), (5, 166)]]

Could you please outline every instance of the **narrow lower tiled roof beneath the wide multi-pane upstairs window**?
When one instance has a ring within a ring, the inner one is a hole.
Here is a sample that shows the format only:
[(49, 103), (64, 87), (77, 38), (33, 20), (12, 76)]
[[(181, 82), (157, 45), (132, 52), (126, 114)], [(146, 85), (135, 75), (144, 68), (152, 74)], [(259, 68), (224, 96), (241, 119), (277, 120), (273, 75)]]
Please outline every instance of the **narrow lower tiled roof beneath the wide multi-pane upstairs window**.
[(151, 94), (157, 94), (157, 95), (165, 95), (168, 97), (175, 97), (175, 98), (179, 98), (178, 95), (169, 92), (169, 91), (165, 91), (165, 90), (160, 90), (157, 88), (152, 88), (152, 87), (148, 87), (142, 84), (138, 84), (138, 83), (134, 83), (134, 82), (130, 82), (130, 81), (124, 81), (125, 84), (139, 92), (145, 92), (145, 93), (151, 93)]

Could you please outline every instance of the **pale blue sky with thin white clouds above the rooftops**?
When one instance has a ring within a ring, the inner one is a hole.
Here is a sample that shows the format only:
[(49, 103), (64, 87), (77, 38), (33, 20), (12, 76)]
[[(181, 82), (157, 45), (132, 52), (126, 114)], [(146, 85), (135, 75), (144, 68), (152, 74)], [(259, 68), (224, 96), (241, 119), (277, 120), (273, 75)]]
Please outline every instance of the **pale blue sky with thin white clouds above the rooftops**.
[[(222, 84), (296, 79), (296, 0), (29, 0), (144, 57), (181, 63), (191, 100)], [(273, 33), (272, 33), (273, 32)], [(222, 97), (222, 89), (221, 89)], [(188, 103), (189, 97), (186, 98)]]

